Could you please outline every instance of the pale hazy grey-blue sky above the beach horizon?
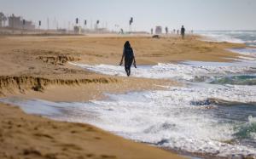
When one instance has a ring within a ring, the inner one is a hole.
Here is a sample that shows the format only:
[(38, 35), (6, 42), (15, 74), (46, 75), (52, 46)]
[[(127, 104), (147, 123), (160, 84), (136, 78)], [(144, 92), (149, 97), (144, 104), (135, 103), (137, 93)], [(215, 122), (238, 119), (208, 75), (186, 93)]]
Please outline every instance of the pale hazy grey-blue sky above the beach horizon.
[(50, 27), (54, 20), (68, 27), (78, 17), (88, 20), (88, 27), (100, 20), (105, 26), (108, 21), (108, 28), (118, 24), (127, 30), (132, 16), (137, 31), (182, 25), (188, 30), (256, 30), (256, 0), (0, 0), (1, 11), (42, 20), (44, 28), (48, 17)]

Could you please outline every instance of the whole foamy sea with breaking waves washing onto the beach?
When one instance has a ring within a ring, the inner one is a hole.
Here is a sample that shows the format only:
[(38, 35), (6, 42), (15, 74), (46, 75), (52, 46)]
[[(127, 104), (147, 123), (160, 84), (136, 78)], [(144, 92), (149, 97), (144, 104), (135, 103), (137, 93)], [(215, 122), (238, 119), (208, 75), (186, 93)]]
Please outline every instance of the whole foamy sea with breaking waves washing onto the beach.
[[(95, 125), (126, 139), (199, 158), (256, 157), (256, 31), (195, 31), (202, 40), (245, 43), (233, 62), (181, 61), (137, 65), (131, 77), (171, 79), (183, 86), (106, 94), (88, 102), (0, 99), (29, 114)], [(71, 63), (125, 77), (118, 65)], [(36, 106), (35, 106), (36, 105)]]

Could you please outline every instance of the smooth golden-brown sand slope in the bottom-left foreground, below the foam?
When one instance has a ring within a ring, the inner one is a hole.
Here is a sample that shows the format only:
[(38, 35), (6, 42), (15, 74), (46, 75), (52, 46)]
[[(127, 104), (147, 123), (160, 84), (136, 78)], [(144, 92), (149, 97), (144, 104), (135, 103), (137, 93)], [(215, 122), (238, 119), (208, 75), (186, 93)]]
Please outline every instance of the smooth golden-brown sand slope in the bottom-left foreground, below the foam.
[(0, 104), (0, 110), (1, 158), (183, 158), (89, 124), (27, 115), (11, 105)]

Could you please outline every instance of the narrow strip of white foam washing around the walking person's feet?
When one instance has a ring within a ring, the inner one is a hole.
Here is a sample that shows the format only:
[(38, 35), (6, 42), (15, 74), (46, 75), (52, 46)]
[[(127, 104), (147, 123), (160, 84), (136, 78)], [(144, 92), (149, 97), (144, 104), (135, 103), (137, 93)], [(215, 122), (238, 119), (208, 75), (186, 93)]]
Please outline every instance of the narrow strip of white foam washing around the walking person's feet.
[[(90, 71), (102, 74), (125, 77), (124, 67), (118, 65), (84, 65), (70, 63)], [(197, 77), (236, 74), (246, 71), (256, 71), (256, 63), (218, 63), (218, 62), (184, 62), (183, 64), (159, 64), (153, 66), (139, 66), (131, 70), (131, 77), (167, 78), (193, 81)], [(253, 67), (254, 66), (254, 67)]]

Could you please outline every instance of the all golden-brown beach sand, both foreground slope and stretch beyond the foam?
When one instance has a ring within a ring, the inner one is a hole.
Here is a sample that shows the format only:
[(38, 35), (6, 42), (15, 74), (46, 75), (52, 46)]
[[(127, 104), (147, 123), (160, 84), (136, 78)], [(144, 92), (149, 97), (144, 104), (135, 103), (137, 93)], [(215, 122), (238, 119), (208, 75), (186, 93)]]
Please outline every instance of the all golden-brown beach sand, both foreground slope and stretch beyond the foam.
[[(166, 80), (110, 77), (84, 71), (67, 61), (119, 64), (131, 42), (137, 65), (179, 60), (228, 61), (224, 48), (242, 44), (207, 43), (198, 37), (0, 37), (0, 96), (53, 101), (100, 99), (102, 93), (159, 89)], [(37, 106), (37, 105), (35, 105)], [(181, 158), (134, 143), (87, 124), (55, 122), (0, 104), (0, 158)]]

